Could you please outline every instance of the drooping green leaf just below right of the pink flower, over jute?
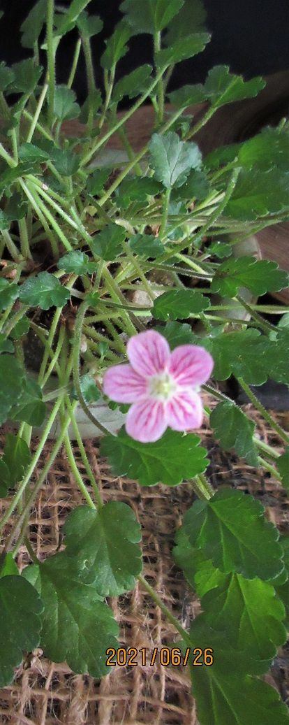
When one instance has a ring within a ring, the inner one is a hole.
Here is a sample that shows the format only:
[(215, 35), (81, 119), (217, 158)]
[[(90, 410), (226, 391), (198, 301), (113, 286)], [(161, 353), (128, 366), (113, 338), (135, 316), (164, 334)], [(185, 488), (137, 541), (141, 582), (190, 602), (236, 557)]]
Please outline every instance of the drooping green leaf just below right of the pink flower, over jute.
[(253, 440), (255, 423), (230, 401), (220, 402), (210, 415), (214, 435), (225, 450), (235, 448), (249, 465), (258, 466), (258, 453)]

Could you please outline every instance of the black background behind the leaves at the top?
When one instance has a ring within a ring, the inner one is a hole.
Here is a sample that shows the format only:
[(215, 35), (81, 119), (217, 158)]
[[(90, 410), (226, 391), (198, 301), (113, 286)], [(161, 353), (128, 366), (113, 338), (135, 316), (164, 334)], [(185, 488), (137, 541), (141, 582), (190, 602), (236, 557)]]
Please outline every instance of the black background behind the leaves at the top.
[[(120, 20), (121, 0), (92, 0), (89, 12), (101, 15), (104, 30), (92, 38), (93, 61), (96, 80), (101, 83), (99, 58), (104, 51), (107, 38)], [(31, 7), (33, 0), (0, 0), (4, 16), (0, 20), (0, 59), (9, 65), (30, 55), (20, 45), (19, 28)], [(69, 6), (69, 0), (62, 0), (62, 6)], [(169, 90), (185, 83), (204, 81), (213, 65), (225, 63), (231, 70), (245, 78), (254, 75), (268, 75), (289, 67), (289, 0), (204, 0), (207, 12), (206, 26), (212, 33), (211, 43), (196, 57), (177, 65), (170, 81)], [(193, 28), (190, 29), (190, 32)], [(72, 54), (77, 38), (72, 30), (64, 37), (57, 51), (57, 82), (67, 80)], [(117, 78), (130, 72), (138, 65), (151, 62), (151, 36), (141, 35), (130, 39), (130, 51), (117, 66)], [(45, 54), (41, 54), (45, 62)], [(78, 72), (74, 84), (78, 100), (86, 96), (85, 67), (80, 54)]]

